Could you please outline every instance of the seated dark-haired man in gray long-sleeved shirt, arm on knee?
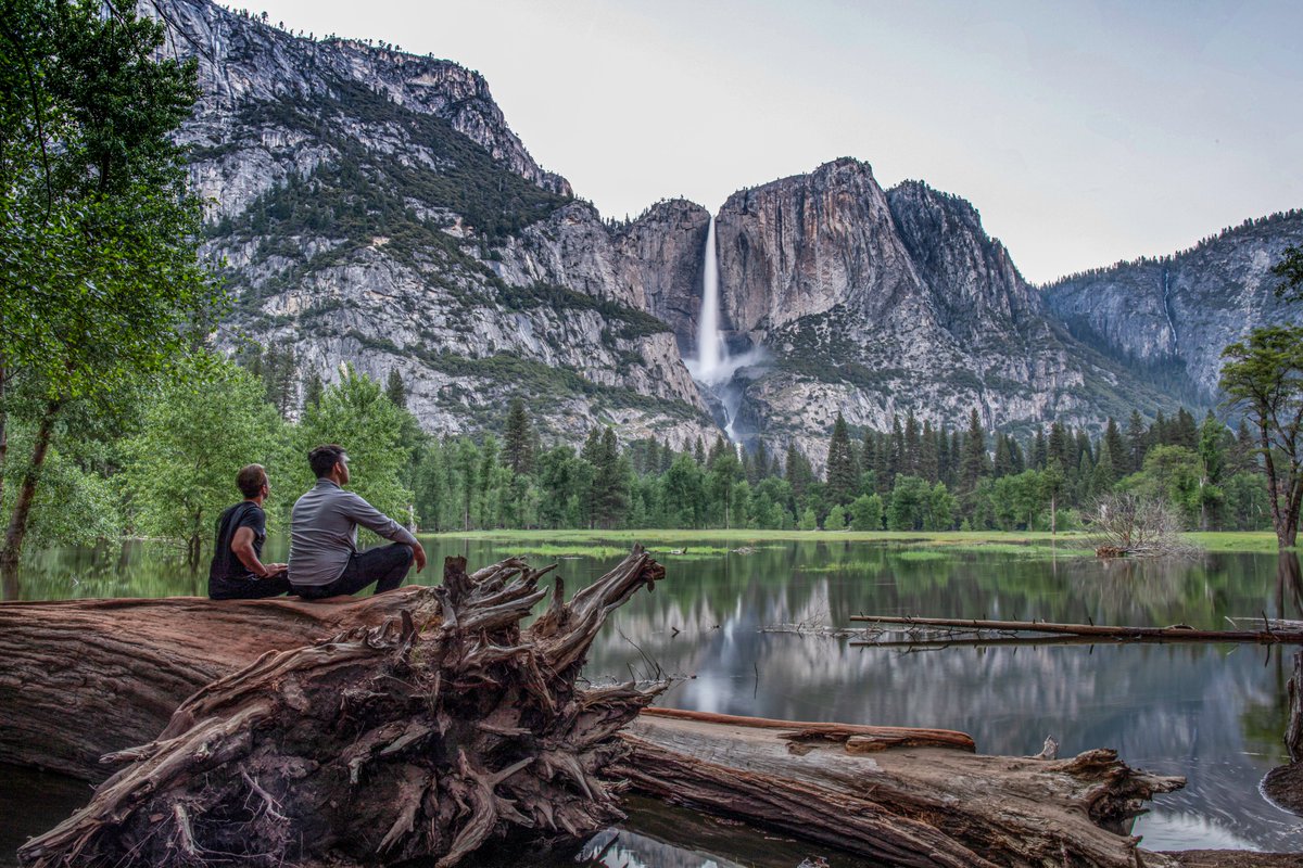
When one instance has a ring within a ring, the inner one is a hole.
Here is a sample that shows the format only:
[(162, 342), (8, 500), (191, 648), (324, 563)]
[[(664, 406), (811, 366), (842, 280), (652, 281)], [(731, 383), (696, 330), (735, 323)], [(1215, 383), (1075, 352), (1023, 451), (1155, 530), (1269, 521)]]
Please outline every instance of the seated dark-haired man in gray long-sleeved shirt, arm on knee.
[[(306, 600), (357, 593), (375, 583), (375, 592), (403, 583), (416, 560), (425, 569), (425, 549), (412, 534), (365, 500), (347, 492), (348, 455), (343, 446), (317, 446), (308, 453), (317, 485), (294, 504), (289, 522), (289, 584)], [(375, 531), (392, 545), (357, 550), (357, 526)]]

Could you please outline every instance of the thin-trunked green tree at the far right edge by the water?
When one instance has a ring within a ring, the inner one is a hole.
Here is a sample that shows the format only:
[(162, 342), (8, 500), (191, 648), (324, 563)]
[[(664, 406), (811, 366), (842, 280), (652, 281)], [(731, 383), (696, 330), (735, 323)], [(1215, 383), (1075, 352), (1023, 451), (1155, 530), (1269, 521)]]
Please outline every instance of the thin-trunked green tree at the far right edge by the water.
[(1253, 329), (1222, 350), (1227, 405), (1248, 416), (1267, 471), (1268, 505), (1281, 548), (1298, 539), (1303, 504), (1303, 327)]

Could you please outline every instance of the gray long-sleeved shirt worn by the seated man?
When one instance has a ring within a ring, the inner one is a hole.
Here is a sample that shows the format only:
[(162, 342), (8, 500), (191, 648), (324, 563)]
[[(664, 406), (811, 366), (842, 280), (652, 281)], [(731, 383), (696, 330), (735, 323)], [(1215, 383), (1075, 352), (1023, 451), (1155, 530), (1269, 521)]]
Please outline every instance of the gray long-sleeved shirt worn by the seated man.
[(330, 584), (344, 574), (357, 550), (357, 526), (387, 540), (416, 545), (416, 537), (392, 518), (330, 479), (317, 484), (294, 502), (289, 519), (289, 582), (300, 586)]

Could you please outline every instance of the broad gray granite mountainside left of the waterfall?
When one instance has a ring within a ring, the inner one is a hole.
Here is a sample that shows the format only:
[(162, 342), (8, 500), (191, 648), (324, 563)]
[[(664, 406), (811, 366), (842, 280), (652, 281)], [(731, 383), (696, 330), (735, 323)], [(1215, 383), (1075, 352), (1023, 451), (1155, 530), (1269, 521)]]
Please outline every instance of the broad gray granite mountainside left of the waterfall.
[(181, 138), (236, 298), (222, 345), (292, 347), (304, 381), (397, 370), (438, 433), (495, 428), (521, 394), (566, 440), (595, 424), (714, 436), (670, 327), (645, 312), (684, 268), (662, 232), (672, 208), (607, 226), (453, 62), (203, 0), (146, 12), (199, 59)]

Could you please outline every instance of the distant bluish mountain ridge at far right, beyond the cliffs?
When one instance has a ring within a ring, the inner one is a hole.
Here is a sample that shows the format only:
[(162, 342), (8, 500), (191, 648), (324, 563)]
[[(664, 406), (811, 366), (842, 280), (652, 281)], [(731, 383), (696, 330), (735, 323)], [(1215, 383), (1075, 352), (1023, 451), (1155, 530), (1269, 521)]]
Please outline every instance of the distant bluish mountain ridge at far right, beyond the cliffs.
[(1247, 221), (1171, 256), (1066, 277), (1045, 288), (1045, 299), (1076, 337), (1210, 401), (1224, 346), (1260, 325), (1298, 320), (1276, 299), (1280, 280), (1270, 271), (1290, 245), (1303, 245), (1300, 210)]

